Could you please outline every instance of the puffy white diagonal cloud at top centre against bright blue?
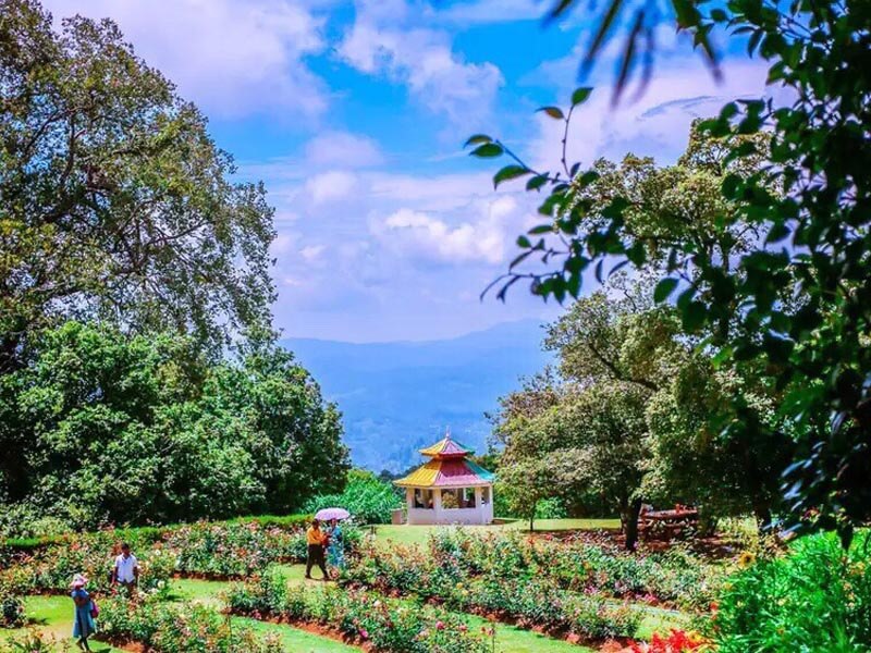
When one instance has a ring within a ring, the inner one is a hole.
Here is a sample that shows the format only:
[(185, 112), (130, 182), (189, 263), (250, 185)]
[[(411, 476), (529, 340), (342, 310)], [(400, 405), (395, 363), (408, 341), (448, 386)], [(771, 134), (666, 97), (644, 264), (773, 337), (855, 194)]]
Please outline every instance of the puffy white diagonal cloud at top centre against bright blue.
[(344, 61), (405, 84), (418, 102), (452, 123), (480, 122), (503, 83), (499, 69), (489, 62), (466, 62), (453, 51), (446, 33), (404, 25), (403, 11), (377, 8), (377, 2), (357, 3), (356, 21), (339, 48)]

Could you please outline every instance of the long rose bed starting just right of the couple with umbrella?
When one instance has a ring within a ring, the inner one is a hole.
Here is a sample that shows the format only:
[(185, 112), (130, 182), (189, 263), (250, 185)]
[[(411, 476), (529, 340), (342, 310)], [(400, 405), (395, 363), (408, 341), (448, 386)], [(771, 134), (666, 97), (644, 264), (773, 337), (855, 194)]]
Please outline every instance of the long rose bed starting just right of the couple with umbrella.
[(342, 581), (378, 591), (413, 594), (447, 607), (495, 615), (524, 628), (582, 640), (630, 638), (641, 615), (628, 604), (560, 588), (549, 578), (473, 574), (455, 555), (431, 555), (415, 547), (364, 549), (342, 572)]

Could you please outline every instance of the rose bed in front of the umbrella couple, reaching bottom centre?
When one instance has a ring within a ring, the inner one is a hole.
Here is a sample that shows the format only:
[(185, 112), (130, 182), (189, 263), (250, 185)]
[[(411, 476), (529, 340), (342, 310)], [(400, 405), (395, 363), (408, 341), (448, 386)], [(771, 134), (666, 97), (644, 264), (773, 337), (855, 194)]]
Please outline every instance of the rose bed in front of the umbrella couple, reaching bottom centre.
[(486, 653), (488, 642), (465, 620), (444, 611), (398, 604), (367, 592), (289, 586), (278, 574), (237, 583), (228, 595), (231, 612), (258, 619), (315, 623), (376, 651)]

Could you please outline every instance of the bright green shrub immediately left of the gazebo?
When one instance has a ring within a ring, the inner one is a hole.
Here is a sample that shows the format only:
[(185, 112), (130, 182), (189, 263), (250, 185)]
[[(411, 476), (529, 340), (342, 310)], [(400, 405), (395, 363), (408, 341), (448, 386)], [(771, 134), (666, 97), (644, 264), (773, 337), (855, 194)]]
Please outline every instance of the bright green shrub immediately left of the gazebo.
[(318, 494), (303, 507), (315, 514), (321, 508), (345, 508), (358, 523), (390, 523), (391, 512), (403, 502), (392, 484), (381, 481), (365, 469), (352, 469), (341, 494)]

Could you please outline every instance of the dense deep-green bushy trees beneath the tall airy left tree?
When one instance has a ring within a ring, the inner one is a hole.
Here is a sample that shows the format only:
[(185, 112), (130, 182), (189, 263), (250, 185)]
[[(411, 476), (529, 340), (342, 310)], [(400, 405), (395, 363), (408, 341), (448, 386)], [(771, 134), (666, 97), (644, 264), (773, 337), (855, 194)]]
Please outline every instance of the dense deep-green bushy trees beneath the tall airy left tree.
[(343, 486), (341, 438), (335, 406), (278, 346), (212, 364), (187, 337), (68, 322), (0, 375), (0, 444), (16, 443), (0, 530), (287, 513)]

